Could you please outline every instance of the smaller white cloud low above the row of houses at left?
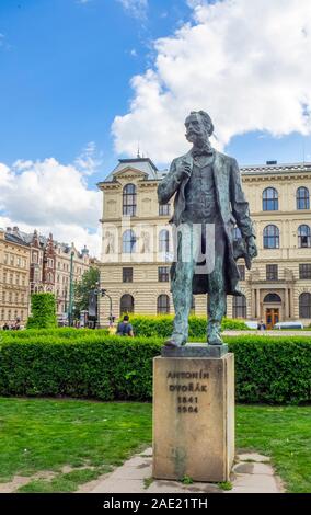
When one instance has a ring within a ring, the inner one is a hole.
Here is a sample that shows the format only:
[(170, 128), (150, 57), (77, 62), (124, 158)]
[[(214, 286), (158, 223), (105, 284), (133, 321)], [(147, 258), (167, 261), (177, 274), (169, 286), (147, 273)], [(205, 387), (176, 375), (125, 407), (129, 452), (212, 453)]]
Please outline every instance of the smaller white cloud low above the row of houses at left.
[(100, 251), (101, 193), (88, 188), (84, 174), (54, 158), (0, 163), (0, 226), (19, 226), (59, 241)]

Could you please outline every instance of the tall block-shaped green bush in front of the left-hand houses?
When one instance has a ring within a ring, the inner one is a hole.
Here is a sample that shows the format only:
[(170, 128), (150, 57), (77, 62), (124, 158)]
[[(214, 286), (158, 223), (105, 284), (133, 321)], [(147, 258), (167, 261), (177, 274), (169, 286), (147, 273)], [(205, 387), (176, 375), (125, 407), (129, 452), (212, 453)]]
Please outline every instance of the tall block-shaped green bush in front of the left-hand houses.
[(53, 294), (32, 295), (32, 316), (27, 320), (27, 329), (56, 328), (56, 305)]

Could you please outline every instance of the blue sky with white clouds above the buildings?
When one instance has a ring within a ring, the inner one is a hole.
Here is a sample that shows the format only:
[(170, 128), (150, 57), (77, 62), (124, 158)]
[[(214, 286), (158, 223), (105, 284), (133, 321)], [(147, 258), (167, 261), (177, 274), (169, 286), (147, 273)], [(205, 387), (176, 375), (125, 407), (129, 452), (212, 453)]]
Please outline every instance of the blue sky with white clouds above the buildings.
[(310, 0), (0, 0), (0, 227), (100, 253), (96, 183), (205, 110), (241, 165), (311, 161)]

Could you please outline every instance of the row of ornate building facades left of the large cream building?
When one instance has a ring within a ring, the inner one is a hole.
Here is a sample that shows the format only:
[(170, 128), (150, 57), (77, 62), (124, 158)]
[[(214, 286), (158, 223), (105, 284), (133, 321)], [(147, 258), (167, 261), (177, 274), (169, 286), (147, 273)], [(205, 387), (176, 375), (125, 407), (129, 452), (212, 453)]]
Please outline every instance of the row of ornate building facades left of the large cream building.
[(38, 234), (27, 234), (18, 227), (0, 230), (0, 325), (12, 325), (18, 319), (24, 325), (31, 309), (31, 294), (55, 295), (57, 316), (68, 312), (70, 266), (72, 282), (79, 282), (94, 259), (84, 247), (79, 252), (68, 245)]

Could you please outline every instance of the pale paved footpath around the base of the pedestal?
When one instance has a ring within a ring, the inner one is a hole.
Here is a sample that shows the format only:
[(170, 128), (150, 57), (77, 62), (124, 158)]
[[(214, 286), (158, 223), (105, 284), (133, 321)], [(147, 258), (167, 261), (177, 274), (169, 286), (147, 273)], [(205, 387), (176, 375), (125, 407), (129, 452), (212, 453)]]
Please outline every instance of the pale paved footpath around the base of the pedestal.
[[(279, 493), (280, 480), (269, 458), (256, 453), (240, 454), (232, 472), (232, 489), (224, 491), (218, 484), (192, 483), (152, 479), (152, 449), (149, 448), (126, 461), (112, 473), (81, 487), (90, 493)], [(87, 488), (85, 488), (87, 487)]]

